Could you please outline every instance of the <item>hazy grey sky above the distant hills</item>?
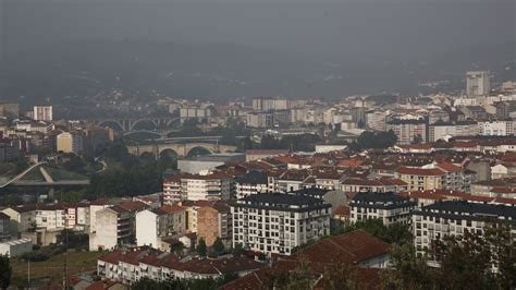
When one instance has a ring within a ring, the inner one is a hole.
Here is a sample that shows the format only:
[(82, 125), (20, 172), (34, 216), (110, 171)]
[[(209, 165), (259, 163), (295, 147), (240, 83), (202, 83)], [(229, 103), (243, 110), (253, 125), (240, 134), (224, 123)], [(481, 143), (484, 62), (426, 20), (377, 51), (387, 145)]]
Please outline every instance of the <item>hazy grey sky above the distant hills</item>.
[(0, 0), (5, 44), (152, 38), (398, 58), (516, 38), (514, 0)]

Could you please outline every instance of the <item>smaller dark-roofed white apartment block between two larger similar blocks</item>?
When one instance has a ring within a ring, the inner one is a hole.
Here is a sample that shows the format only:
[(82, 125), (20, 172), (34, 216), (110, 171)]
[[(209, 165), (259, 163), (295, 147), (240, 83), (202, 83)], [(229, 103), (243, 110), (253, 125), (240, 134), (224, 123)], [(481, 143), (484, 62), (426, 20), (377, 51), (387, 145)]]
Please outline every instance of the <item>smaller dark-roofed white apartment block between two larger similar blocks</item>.
[(351, 221), (381, 219), (383, 225), (410, 222), (417, 202), (392, 192), (360, 192), (349, 203)]

